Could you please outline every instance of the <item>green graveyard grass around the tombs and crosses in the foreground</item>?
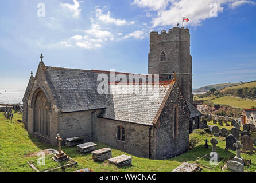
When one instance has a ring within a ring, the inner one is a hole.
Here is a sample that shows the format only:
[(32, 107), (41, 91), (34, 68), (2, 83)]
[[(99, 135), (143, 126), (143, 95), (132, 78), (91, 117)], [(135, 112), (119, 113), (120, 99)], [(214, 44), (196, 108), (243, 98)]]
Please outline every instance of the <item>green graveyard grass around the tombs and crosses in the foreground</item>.
[[(0, 171), (25, 171), (32, 172), (34, 171), (27, 163), (27, 161), (37, 162), (37, 156), (31, 156), (32, 153), (38, 152), (40, 150), (53, 148), (57, 149), (57, 147), (51, 147), (50, 145), (43, 144), (38, 141), (36, 138), (30, 136), (28, 132), (24, 129), (24, 125), (18, 122), (17, 120), (21, 120), (21, 115), (18, 113), (14, 114), (13, 123), (10, 123), (10, 120), (5, 120), (3, 113), (0, 113)], [(210, 122), (212, 124), (212, 122)], [(213, 124), (212, 124), (213, 125)], [(217, 125), (218, 126), (218, 125)], [(223, 126), (219, 126), (223, 128)], [(228, 133), (230, 133), (232, 127), (226, 127)], [(252, 133), (253, 137), (256, 137), (255, 133)], [(211, 135), (204, 134), (201, 135), (199, 133), (192, 133), (190, 138), (196, 138), (199, 141), (199, 144), (195, 146), (195, 148), (188, 150), (188, 152), (181, 154), (178, 157), (172, 158), (170, 160), (149, 160), (147, 158), (138, 158), (133, 156), (133, 162), (131, 166), (125, 166), (123, 168), (118, 168), (115, 165), (108, 164), (107, 161), (104, 162), (95, 162), (92, 160), (91, 153), (82, 154), (77, 152), (77, 148), (68, 148), (63, 147), (63, 150), (69, 157), (73, 160), (77, 161), (77, 166), (72, 166), (70, 168), (65, 169), (57, 169), (56, 171), (75, 171), (83, 168), (90, 168), (94, 171), (100, 172), (108, 172), (108, 171), (122, 171), (122, 172), (151, 172), (151, 171), (159, 171), (159, 172), (168, 172), (172, 171), (174, 168), (182, 164), (184, 161), (187, 162), (196, 162), (197, 164), (201, 164), (207, 166), (208, 168), (202, 167), (203, 171), (221, 171), (220, 166), (222, 166), (225, 160), (230, 156), (235, 156), (236, 152), (225, 149), (225, 141), (223, 137), (218, 138), (219, 144), (216, 147), (217, 152), (219, 153), (222, 161), (217, 166), (211, 166), (209, 164), (209, 157), (203, 157), (205, 154), (210, 154), (211, 152), (211, 144), (209, 144), (209, 149), (204, 149), (204, 140), (207, 138), (209, 141), (211, 140)], [(98, 143), (96, 149), (101, 148), (111, 148), (105, 144)], [(121, 154), (127, 154), (121, 152), (120, 150), (113, 149), (113, 157), (119, 156)], [(130, 154), (127, 154), (130, 155)], [(131, 155), (130, 155), (131, 156)], [(250, 168), (245, 166), (246, 171), (255, 171), (256, 170), (256, 154), (249, 155), (242, 153), (241, 156), (247, 160), (251, 160), (252, 164)], [(37, 169), (40, 171), (48, 170), (56, 168), (61, 165), (61, 163), (56, 163), (52, 160), (52, 156), (46, 156), (46, 165), (38, 166)], [(34, 160), (34, 161), (33, 161)], [(199, 161), (197, 161), (199, 160)]]

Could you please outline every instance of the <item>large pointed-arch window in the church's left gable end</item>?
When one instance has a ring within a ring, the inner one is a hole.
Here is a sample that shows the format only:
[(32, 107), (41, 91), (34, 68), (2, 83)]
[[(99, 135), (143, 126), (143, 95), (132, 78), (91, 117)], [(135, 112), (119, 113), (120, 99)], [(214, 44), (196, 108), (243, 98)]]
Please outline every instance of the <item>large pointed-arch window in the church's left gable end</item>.
[(33, 131), (40, 136), (50, 136), (50, 103), (45, 93), (40, 90), (34, 101)]

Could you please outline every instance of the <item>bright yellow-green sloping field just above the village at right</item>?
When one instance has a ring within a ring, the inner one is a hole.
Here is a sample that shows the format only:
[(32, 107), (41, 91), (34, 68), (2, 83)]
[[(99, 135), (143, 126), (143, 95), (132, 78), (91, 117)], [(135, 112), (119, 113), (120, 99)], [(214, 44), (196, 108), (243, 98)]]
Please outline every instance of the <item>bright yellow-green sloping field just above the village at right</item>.
[(230, 96), (219, 97), (211, 100), (214, 104), (229, 105), (234, 108), (251, 109), (252, 106), (256, 106), (256, 101), (244, 100), (241, 98), (235, 98)]

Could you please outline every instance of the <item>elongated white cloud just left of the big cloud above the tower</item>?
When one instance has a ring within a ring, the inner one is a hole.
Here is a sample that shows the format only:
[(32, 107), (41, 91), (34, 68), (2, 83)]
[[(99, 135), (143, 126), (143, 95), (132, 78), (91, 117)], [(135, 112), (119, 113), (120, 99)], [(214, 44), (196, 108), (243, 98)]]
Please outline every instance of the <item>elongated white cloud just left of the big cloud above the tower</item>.
[(123, 25), (132, 25), (135, 22), (131, 21), (128, 22), (125, 19), (115, 19), (110, 17), (110, 11), (107, 12), (107, 14), (103, 14), (102, 9), (97, 8), (96, 9), (96, 17), (99, 19), (99, 21), (103, 23), (113, 23), (117, 26), (123, 26)]

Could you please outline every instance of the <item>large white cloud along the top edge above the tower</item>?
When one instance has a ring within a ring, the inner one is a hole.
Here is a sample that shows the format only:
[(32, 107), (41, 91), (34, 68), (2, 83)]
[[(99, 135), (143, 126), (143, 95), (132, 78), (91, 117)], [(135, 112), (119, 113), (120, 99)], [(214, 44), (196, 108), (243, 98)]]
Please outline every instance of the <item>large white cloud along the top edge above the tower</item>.
[[(177, 23), (182, 23), (182, 17), (188, 17), (190, 20), (185, 25), (198, 26), (205, 19), (214, 17), (212, 12), (215, 10), (218, 14), (222, 13), (225, 5), (235, 8), (246, 3), (255, 4), (251, 0), (134, 0), (133, 2), (139, 7), (157, 11), (157, 16), (152, 18), (153, 27), (176, 26)], [(147, 13), (147, 16), (149, 15), (152, 14)]]

